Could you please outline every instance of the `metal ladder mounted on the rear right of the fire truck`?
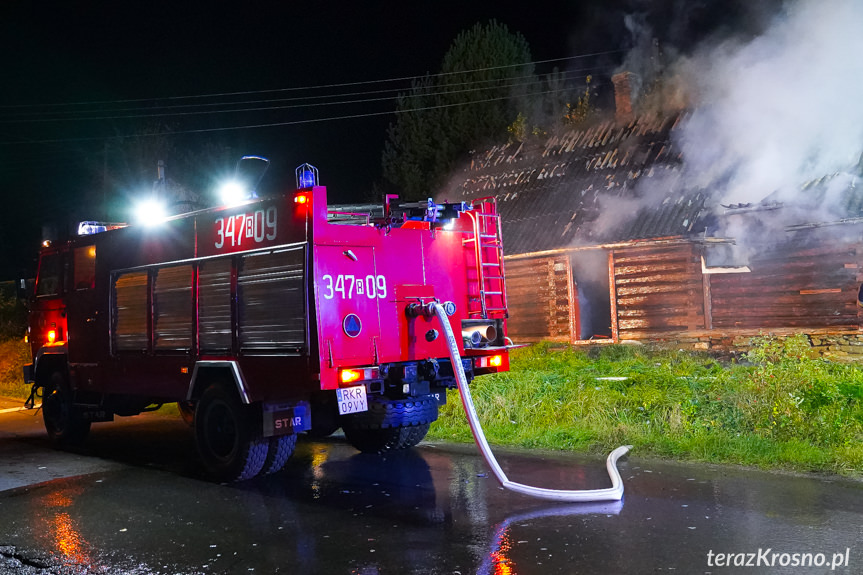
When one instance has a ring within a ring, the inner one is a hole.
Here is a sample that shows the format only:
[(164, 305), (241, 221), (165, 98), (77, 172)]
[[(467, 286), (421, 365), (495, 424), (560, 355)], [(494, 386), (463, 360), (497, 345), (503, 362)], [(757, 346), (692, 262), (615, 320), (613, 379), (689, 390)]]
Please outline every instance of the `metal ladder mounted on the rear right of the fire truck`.
[(472, 220), (473, 237), (463, 242), (473, 260), (473, 269), (468, 269), (468, 317), (505, 318), (506, 279), (497, 200), (478, 198), (471, 205), (473, 210), (465, 213)]

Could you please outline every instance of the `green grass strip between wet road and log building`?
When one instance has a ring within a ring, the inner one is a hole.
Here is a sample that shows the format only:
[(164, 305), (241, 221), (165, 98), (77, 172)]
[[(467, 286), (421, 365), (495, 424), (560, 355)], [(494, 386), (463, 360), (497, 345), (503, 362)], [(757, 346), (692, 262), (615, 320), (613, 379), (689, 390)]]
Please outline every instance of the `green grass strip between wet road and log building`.
[[(863, 476), (863, 367), (809, 358), (803, 336), (755, 344), (745, 363), (728, 364), (646, 346), (539, 344), (471, 391), (498, 445), (631, 444), (640, 455)], [(457, 392), (429, 438), (472, 441)]]

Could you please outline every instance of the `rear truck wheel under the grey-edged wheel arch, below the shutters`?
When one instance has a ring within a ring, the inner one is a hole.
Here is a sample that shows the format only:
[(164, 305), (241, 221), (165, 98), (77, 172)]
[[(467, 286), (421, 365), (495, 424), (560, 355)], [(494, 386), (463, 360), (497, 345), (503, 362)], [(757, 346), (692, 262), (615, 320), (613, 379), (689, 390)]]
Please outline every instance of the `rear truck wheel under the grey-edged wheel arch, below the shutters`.
[(225, 386), (204, 391), (195, 409), (195, 443), (214, 479), (243, 481), (260, 473), (270, 442), (255, 423), (249, 406)]

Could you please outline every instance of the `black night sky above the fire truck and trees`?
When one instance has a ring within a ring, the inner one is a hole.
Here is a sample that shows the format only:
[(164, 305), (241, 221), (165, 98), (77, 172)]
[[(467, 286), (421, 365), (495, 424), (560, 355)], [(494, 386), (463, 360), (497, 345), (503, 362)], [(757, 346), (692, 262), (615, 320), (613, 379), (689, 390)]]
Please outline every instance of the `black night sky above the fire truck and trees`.
[[(607, 76), (633, 44), (626, 14), (641, 14), (663, 43), (685, 52), (710, 34), (746, 33), (762, 7), (778, 3), (6, 0), (0, 6), (0, 281), (33, 273), (43, 225), (101, 218), (103, 200), (109, 215), (122, 213), (122, 204), (155, 178), (155, 166), (145, 166), (150, 171), (142, 178), (135, 163), (136, 151), (154, 141), (173, 148), (165, 158), (169, 176), (172, 162), (204, 158), (196, 166), (199, 181), (215, 182), (240, 155), (260, 154), (272, 162), (270, 186), (293, 185), (293, 169), (309, 162), (320, 170), (331, 202), (362, 201), (381, 178), (394, 100), (248, 108), (272, 105), (261, 100), (407, 89), (410, 80), (403, 78), (437, 72), (458, 32), (477, 22), (494, 18), (521, 32), (535, 61), (605, 52), (558, 66)], [(538, 64), (536, 71), (553, 65)], [(189, 104), (195, 106), (177, 107)], [(246, 111), (227, 112), (236, 108)], [(201, 111), (208, 113), (188, 113)], [(327, 120), (354, 115), (370, 116)], [(82, 116), (91, 119), (69, 119)], [(268, 124), (280, 125), (248, 127)], [(172, 135), (106, 139), (142, 131)], [(231, 160), (213, 164), (213, 150)], [(106, 156), (110, 182), (103, 182)]]

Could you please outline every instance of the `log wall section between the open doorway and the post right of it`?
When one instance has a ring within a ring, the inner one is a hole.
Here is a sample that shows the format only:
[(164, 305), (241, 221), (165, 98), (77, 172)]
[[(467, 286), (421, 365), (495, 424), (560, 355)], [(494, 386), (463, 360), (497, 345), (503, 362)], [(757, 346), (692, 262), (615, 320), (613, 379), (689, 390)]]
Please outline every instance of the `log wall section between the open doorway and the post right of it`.
[(696, 246), (615, 249), (613, 261), (620, 339), (705, 328), (704, 283)]

